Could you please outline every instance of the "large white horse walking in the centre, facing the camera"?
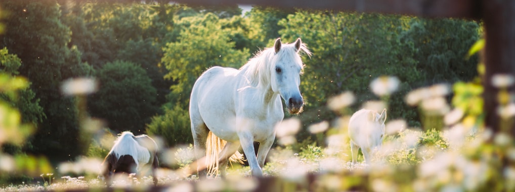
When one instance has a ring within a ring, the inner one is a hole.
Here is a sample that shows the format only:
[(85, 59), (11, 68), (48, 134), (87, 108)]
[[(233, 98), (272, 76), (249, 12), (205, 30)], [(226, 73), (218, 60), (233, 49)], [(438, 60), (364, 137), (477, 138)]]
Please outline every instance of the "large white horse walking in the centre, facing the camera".
[[(273, 48), (262, 50), (239, 70), (212, 67), (198, 78), (190, 99), (197, 160), (213, 151), (207, 155), (208, 169), (216, 165), (224, 177), (229, 157), (241, 145), (252, 175), (263, 175), (265, 158), (276, 137), (274, 126), (284, 118), (281, 97), (288, 112), (302, 111), (299, 51), (311, 55), (300, 38), (293, 44), (277, 39)], [(222, 140), (227, 142), (223, 149)], [(254, 141), (260, 143), (257, 157)], [(205, 177), (201, 163), (197, 171), (199, 177)]]

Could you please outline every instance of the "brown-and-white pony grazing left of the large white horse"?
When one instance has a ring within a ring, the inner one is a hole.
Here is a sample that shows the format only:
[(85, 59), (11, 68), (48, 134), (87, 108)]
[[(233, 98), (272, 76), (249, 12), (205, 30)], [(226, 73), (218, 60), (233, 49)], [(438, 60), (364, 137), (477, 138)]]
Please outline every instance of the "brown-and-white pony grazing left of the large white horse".
[(124, 131), (116, 139), (113, 148), (102, 163), (98, 177), (110, 181), (111, 176), (116, 173), (136, 174), (151, 169), (153, 182), (157, 185), (155, 170), (159, 165), (157, 150), (158, 145), (147, 135), (134, 136), (132, 132)]

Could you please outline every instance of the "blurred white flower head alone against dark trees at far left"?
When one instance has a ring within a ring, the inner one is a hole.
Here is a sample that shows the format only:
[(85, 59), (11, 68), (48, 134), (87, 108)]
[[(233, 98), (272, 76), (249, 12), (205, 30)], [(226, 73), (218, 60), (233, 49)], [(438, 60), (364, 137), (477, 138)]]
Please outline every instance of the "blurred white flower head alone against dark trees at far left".
[(61, 85), (65, 95), (90, 94), (97, 90), (97, 82), (92, 78), (68, 79)]

